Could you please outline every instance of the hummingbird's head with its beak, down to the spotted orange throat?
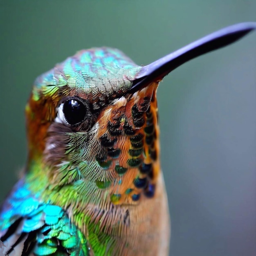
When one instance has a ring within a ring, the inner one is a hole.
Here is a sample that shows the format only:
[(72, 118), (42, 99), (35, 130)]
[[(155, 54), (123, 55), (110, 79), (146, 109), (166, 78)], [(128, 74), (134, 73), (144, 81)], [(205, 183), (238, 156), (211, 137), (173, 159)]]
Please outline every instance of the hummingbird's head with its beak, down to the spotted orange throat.
[(137, 204), (153, 197), (160, 170), (159, 81), (252, 29), (254, 23), (227, 27), (146, 66), (106, 47), (57, 64), (36, 79), (26, 107), (28, 166), (40, 163), (34, 169), (47, 177), (47, 188), (72, 186), (87, 202)]

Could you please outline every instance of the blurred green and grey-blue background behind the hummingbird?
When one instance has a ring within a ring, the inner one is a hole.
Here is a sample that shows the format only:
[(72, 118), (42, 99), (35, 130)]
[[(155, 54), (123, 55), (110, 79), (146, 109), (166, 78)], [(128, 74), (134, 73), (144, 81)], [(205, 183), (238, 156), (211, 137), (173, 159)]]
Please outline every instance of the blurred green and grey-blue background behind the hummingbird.
[[(255, 0), (1, 1), (0, 201), (25, 164), (36, 76), (92, 46), (146, 65), (243, 21), (256, 21)], [(255, 256), (256, 32), (173, 71), (158, 102), (170, 255)]]

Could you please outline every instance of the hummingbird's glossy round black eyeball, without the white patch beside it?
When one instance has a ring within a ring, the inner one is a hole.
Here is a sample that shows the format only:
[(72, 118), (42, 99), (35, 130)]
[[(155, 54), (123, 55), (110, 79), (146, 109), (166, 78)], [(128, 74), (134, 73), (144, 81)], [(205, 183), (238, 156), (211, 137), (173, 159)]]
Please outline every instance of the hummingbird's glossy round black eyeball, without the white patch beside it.
[(67, 99), (63, 103), (63, 114), (68, 124), (81, 123), (86, 115), (85, 105), (76, 99)]

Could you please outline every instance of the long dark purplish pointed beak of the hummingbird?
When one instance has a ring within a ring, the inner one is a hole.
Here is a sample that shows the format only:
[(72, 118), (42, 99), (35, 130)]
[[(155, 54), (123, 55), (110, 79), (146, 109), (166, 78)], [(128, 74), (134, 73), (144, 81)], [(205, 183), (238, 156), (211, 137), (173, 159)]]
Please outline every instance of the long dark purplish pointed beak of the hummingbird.
[(162, 79), (176, 67), (207, 52), (236, 42), (250, 31), (256, 29), (256, 22), (245, 22), (225, 27), (205, 36), (185, 47), (168, 54), (141, 68), (132, 82), (130, 92), (135, 92), (152, 81)]

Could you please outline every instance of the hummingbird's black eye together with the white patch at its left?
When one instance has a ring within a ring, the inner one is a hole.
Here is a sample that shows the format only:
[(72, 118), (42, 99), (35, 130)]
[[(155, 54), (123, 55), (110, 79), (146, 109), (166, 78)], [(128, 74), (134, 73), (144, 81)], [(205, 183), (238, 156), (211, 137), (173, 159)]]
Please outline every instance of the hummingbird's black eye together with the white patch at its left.
[(86, 113), (87, 108), (82, 101), (76, 98), (67, 99), (59, 106), (56, 121), (77, 125), (84, 121)]

